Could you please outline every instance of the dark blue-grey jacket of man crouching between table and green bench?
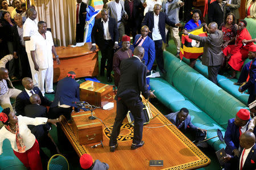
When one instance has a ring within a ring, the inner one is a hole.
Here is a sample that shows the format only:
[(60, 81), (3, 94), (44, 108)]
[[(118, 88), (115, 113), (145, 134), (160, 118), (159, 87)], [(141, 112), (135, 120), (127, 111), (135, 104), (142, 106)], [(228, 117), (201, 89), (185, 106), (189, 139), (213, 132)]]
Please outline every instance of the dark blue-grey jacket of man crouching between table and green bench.
[[(178, 122), (177, 122), (177, 114), (179, 112), (175, 112), (175, 113), (170, 113), (166, 115), (166, 118), (168, 118), (168, 120), (170, 120), (172, 122), (172, 124), (174, 124), (175, 126), (178, 126)], [(191, 116), (188, 114), (187, 118), (184, 120), (184, 126), (183, 126), (184, 130), (186, 130), (187, 128), (191, 129), (191, 130), (197, 130), (197, 126), (193, 125), (191, 122)]]

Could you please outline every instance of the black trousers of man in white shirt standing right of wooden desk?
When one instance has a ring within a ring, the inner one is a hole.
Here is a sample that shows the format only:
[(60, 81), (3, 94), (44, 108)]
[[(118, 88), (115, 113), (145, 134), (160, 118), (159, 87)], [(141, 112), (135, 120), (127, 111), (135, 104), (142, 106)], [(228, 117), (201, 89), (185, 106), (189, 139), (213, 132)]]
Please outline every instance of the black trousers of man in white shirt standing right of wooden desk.
[(107, 61), (107, 76), (111, 76), (111, 71), (113, 69), (113, 55), (114, 55), (114, 41), (104, 40), (104, 46), (101, 47), (101, 70), (100, 74), (104, 75), (104, 69)]

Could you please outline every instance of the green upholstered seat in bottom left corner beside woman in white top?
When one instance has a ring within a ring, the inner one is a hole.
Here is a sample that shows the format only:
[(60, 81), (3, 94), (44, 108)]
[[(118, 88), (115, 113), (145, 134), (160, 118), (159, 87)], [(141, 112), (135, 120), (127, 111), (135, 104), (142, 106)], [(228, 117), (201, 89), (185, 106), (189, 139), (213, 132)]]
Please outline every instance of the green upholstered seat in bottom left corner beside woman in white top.
[(0, 169), (1, 170), (24, 170), (23, 163), (14, 155), (13, 148), (8, 139), (3, 141), (3, 153), (0, 155)]

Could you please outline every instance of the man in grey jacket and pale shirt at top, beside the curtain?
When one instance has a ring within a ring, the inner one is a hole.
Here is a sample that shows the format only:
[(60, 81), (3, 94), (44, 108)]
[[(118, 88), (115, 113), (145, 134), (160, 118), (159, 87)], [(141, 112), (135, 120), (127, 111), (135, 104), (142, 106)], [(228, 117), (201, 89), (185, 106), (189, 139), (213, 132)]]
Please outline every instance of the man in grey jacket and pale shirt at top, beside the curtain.
[(111, 18), (115, 19), (117, 22), (117, 28), (119, 33), (118, 40), (121, 41), (122, 36), (125, 34), (125, 24), (123, 23), (123, 19), (128, 19), (128, 15), (125, 11), (125, 2), (123, 0), (114, 0), (106, 3), (108, 14)]

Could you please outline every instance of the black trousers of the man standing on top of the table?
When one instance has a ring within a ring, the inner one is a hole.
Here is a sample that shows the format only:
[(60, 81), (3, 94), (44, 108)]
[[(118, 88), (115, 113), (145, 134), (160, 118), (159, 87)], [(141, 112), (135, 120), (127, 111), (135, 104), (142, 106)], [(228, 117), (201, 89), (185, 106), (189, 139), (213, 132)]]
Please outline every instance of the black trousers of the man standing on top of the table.
[(134, 117), (133, 143), (138, 144), (141, 142), (143, 133), (142, 108), (143, 103), (139, 97), (135, 102), (135, 105), (131, 105), (130, 103), (123, 100), (117, 101), (117, 116), (115, 116), (115, 122), (110, 136), (109, 146), (114, 146), (117, 143), (117, 137), (120, 133), (123, 119), (125, 119), (128, 111), (131, 111), (131, 114), (133, 114)]

